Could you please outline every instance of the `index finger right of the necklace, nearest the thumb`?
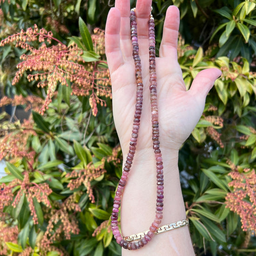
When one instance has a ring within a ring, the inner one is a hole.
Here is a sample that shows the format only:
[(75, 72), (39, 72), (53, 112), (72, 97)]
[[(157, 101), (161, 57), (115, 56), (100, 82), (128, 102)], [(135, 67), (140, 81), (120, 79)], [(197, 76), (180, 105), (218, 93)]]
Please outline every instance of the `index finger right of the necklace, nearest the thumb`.
[(177, 58), (180, 12), (175, 6), (167, 9), (160, 46), (160, 57)]

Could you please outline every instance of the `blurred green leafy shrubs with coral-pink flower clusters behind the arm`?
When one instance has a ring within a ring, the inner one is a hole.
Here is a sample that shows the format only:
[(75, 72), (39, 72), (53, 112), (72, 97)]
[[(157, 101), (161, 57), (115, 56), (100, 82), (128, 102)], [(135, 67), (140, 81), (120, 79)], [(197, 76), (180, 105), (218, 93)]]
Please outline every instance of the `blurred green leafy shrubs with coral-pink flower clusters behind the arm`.
[[(108, 225), (122, 155), (101, 30), (114, 2), (0, 4), (0, 255), (121, 255)], [(186, 87), (200, 70), (222, 69), (180, 150), (195, 252), (252, 256), (256, 1), (153, 0), (158, 46), (170, 4), (181, 12)]]

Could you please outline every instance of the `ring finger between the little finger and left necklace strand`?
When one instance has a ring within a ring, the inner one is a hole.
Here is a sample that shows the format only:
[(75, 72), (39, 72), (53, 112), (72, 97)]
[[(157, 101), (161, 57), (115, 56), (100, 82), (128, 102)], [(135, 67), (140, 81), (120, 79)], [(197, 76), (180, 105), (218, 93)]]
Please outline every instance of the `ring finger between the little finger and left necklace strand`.
[(132, 44), (130, 32), (130, 1), (129, 0), (116, 0), (115, 7), (121, 13), (121, 51), (125, 58), (132, 57)]

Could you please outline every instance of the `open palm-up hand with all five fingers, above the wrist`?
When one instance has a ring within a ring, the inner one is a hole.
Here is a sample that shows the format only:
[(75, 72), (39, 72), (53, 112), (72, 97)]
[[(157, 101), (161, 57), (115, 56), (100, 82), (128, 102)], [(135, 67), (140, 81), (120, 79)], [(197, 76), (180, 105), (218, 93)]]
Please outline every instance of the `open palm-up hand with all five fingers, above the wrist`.
[[(152, 148), (149, 93), (148, 18), (151, 0), (137, 0), (139, 55), (143, 78), (143, 107), (136, 151)], [(113, 92), (113, 112), (123, 154), (128, 153), (135, 111), (135, 64), (130, 40), (130, 1), (116, 0), (106, 24), (106, 55)], [(181, 147), (199, 121), (206, 95), (221, 75), (216, 68), (201, 71), (186, 91), (177, 61), (179, 10), (168, 7), (163, 27), (160, 57), (156, 59), (157, 103), (161, 149)], [(152, 150), (153, 153), (153, 150)]]

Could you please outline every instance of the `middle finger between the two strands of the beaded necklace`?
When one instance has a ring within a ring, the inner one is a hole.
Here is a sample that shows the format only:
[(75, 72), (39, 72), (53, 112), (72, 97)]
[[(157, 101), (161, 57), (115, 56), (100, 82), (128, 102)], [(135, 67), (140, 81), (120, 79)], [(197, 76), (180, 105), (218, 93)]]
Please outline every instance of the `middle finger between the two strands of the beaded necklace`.
[(148, 20), (150, 18), (152, 0), (137, 0), (136, 20), (140, 54), (148, 54)]

